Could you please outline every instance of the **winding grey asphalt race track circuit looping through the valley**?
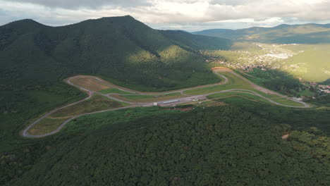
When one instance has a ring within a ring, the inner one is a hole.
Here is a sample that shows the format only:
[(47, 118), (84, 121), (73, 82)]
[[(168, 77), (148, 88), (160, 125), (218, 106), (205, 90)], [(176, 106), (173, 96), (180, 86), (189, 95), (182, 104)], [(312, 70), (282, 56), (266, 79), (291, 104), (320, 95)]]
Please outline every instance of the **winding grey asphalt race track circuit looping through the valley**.
[[(285, 105), (285, 104), (280, 104), (280, 103), (278, 103), (278, 102), (276, 102), (276, 101), (274, 101), (272, 99), (269, 99), (267, 97), (262, 96), (262, 94), (259, 94), (257, 92), (252, 91), (252, 90), (249, 90), (249, 89), (226, 89), (226, 90), (222, 90), (222, 91), (219, 91), (219, 92), (212, 92), (212, 93), (208, 93), (208, 94), (200, 94), (200, 95), (194, 95), (194, 96), (188, 95), (188, 94), (185, 94), (184, 93), (185, 91), (188, 91), (188, 90), (200, 89), (200, 88), (204, 88), (204, 87), (214, 87), (214, 86), (217, 86), (217, 85), (223, 85), (223, 84), (228, 83), (228, 78), (226, 76), (224, 76), (224, 75), (219, 74), (219, 72), (229, 72), (229, 73), (232, 73), (233, 75), (236, 75), (240, 79), (242, 79), (245, 82), (249, 83), (252, 87), (254, 87), (255, 89), (259, 90), (260, 92), (264, 92), (264, 93), (267, 93), (267, 94), (275, 94), (276, 96), (279, 96), (279, 97), (282, 97), (282, 98), (285, 98), (285, 99), (290, 99), (291, 101), (295, 101), (297, 103), (300, 103), (303, 106), (288, 106), (288, 105)], [(126, 100), (118, 99), (118, 98), (113, 97), (111, 95), (159, 95), (159, 94), (181, 93), (182, 95), (184, 95), (186, 97), (183, 97), (183, 98), (180, 98), (180, 99), (177, 99), (177, 100), (180, 101), (180, 102), (187, 102), (187, 101), (192, 101), (193, 99), (196, 99), (196, 98), (207, 97), (209, 95), (219, 94), (219, 93), (222, 93), (222, 92), (238, 92), (238, 93), (244, 93), (244, 94), (252, 94), (252, 95), (255, 95), (257, 97), (262, 97), (263, 99), (266, 99), (267, 101), (271, 102), (272, 104), (276, 104), (276, 105), (279, 105), (279, 106), (286, 106), (286, 107), (292, 107), (292, 108), (309, 108), (310, 107), (310, 105), (309, 104), (306, 104), (305, 102), (297, 101), (295, 99), (292, 99), (290, 97), (284, 96), (284, 95), (279, 94), (277, 92), (273, 92), (273, 91), (271, 91), (269, 89), (265, 89), (264, 87), (260, 87), (259, 85), (255, 85), (255, 83), (250, 82), (250, 80), (247, 80), (245, 77), (243, 77), (241, 75), (238, 75), (237, 73), (234, 73), (232, 70), (214, 70), (214, 73), (216, 73), (216, 75), (219, 75), (219, 77), (224, 78), (224, 81), (221, 81), (219, 83), (215, 83), (215, 84), (212, 84), (212, 85), (201, 85), (201, 86), (197, 86), (197, 87), (191, 87), (191, 88), (186, 88), (186, 89), (179, 89), (179, 90), (176, 90), (176, 91), (169, 91), (169, 92), (138, 92), (138, 91), (133, 91), (133, 90), (126, 89), (126, 88), (123, 88), (123, 87), (118, 87), (118, 86), (113, 85), (113, 84), (111, 84), (109, 82), (106, 82), (106, 81), (104, 81), (102, 79), (99, 79), (98, 77), (88, 76), (88, 75), (78, 75), (78, 76), (74, 76), (74, 77), (69, 77), (65, 81), (69, 85), (72, 85), (73, 87), (77, 87), (78, 89), (81, 89), (82, 91), (87, 92), (88, 97), (85, 98), (85, 99), (82, 99), (80, 101), (77, 101), (77, 102), (75, 102), (73, 104), (68, 104), (66, 106), (61, 106), (61, 107), (59, 107), (57, 109), (54, 109), (53, 111), (50, 111), (49, 113), (46, 113), (41, 118), (35, 120), (34, 123), (28, 125), (27, 128), (25, 128), (21, 132), (21, 135), (23, 137), (31, 137), (31, 138), (35, 138), (35, 137), (47, 137), (49, 135), (54, 135), (56, 132), (59, 132), (66, 125), (66, 123), (68, 123), (71, 120), (73, 120), (75, 118), (78, 118), (80, 116), (85, 116), (85, 115), (93, 114), (93, 113), (102, 113), (102, 112), (106, 112), (106, 111), (115, 111), (115, 110), (119, 110), (119, 109), (134, 108), (134, 107), (137, 107), (137, 106), (153, 106), (153, 103), (154, 103), (154, 102), (131, 102), (131, 101), (126, 101)], [(90, 90), (90, 89), (86, 89), (85, 87), (81, 87), (80, 85), (75, 85), (73, 82), (71, 82), (71, 80), (73, 78), (77, 78), (77, 77), (92, 77), (92, 78), (95, 78), (95, 79), (99, 80), (100, 82), (108, 85), (109, 87), (114, 87), (114, 88), (120, 89), (120, 90), (125, 91), (125, 92), (130, 92), (132, 94), (117, 94), (117, 93), (102, 94), (100, 92), (96, 92), (96, 91), (93, 91), (93, 90)], [(56, 130), (54, 130), (52, 132), (49, 132), (47, 134), (43, 134), (43, 135), (30, 135), (28, 133), (28, 131), (33, 126), (35, 126), (37, 123), (39, 123), (42, 119), (47, 118), (47, 116), (51, 115), (51, 113), (54, 113), (56, 111), (59, 111), (59, 110), (61, 110), (63, 108), (66, 108), (68, 106), (73, 106), (73, 105), (78, 104), (78, 103), (80, 103), (82, 101), (86, 101), (87, 99), (90, 99), (93, 94), (99, 94), (99, 95), (102, 95), (104, 97), (109, 97), (110, 99), (114, 99), (116, 101), (121, 101), (121, 102), (124, 102), (126, 104), (130, 104), (130, 106), (123, 106), (123, 107), (116, 108), (116, 109), (106, 109), (106, 110), (102, 110), (102, 111), (94, 111), (94, 112), (91, 112), (91, 113), (82, 113), (80, 115), (73, 116), (73, 117), (68, 118), (67, 120), (65, 120), (63, 123), (61, 123), (61, 125), (59, 125), (59, 127), (56, 128)], [(164, 100), (164, 101), (170, 101), (170, 100), (173, 100), (173, 99)], [(161, 102), (164, 102), (164, 101), (161, 101)], [(176, 102), (175, 104), (177, 104), (177, 103), (178, 102)], [(166, 105), (166, 106), (170, 106), (170, 104), (169, 105)]]

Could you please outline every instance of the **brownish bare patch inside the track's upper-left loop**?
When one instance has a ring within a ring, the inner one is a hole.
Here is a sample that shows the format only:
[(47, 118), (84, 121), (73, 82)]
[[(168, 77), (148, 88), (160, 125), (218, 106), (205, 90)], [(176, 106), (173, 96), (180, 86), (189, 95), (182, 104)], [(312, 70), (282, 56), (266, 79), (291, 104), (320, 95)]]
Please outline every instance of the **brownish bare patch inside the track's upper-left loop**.
[(111, 88), (109, 85), (105, 85), (94, 77), (74, 77), (71, 79), (71, 82), (75, 85), (79, 85), (96, 92)]

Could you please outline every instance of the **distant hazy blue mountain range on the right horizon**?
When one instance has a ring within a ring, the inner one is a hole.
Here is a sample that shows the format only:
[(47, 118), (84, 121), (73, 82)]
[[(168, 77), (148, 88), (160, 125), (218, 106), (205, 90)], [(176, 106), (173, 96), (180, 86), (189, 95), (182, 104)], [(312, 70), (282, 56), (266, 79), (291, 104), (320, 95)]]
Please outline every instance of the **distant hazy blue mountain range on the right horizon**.
[(329, 43), (330, 24), (278, 25), (276, 27), (250, 27), (239, 30), (212, 29), (194, 32), (197, 35), (223, 37), (234, 41), (278, 44)]

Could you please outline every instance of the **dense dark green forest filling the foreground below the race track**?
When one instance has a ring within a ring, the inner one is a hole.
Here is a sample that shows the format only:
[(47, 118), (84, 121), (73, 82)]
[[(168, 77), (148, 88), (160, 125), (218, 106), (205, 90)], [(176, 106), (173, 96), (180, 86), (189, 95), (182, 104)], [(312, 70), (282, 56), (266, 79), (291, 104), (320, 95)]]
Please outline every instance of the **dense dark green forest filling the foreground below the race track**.
[[(30, 171), (9, 185), (330, 182), (329, 137), (317, 128), (295, 130), (290, 121), (276, 122), (276, 116), (259, 117), (238, 106), (197, 108), (112, 125), (111, 118), (104, 116), (88, 116), (70, 124), (96, 122), (103, 125), (100, 128), (67, 130), (50, 137), (49, 142), (39, 142), (44, 145), (44, 154)], [(282, 140), (285, 134), (290, 136)]]

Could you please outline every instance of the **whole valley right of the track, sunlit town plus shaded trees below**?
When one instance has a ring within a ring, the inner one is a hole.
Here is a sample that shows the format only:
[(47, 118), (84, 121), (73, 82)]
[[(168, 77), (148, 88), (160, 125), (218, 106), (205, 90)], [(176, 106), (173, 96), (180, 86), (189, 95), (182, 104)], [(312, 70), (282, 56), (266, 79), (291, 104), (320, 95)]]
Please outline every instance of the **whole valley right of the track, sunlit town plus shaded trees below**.
[(329, 44), (238, 42), (231, 50), (204, 51), (209, 67), (237, 70), (248, 80), (296, 99), (326, 105), (329, 99)]

